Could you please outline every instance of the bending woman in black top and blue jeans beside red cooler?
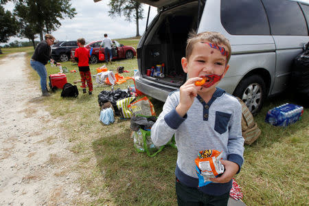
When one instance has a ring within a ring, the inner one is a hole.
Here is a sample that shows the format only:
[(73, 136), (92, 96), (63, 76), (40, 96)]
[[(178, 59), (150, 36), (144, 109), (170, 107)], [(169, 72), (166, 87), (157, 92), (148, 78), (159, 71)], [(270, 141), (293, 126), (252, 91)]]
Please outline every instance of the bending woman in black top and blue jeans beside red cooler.
[(42, 95), (49, 96), (50, 94), (47, 91), (47, 71), (45, 65), (49, 60), (51, 62), (54, 62), (54, 64), (56, 64), (57, 66), (60, 66), (60, 63), (57, 63), (51, 58), (52, 48), (50, 46), (53, 45), (55, 42), (54, 36), (52, 36), (52, 34), (45, 34), (44, 39), (44, 41), (41, 41), (41, 43), (38, 43), (38, 45), (36, 46), (34, 54), (30, 60), (30, 65), (41, 78)]

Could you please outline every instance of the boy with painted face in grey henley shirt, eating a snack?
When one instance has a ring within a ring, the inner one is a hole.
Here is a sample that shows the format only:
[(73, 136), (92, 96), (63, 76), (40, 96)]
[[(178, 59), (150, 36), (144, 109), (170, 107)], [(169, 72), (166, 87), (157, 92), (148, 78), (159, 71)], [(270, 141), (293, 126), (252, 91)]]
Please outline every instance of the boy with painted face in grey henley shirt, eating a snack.
[[(231, 45), (217, 32), (191, 34), (181, 59), (187, 81), (170, 93), (152, 126), (155, 145), (167, 144), (175, 135), (176, 195), (178, 205), (227, 205), (232, 178), (244, 161), (240, 103), (216, 85), (229, 69)], [(198, 82), (205, 79), (201, 86)], [(222, 176), (198, 187), (194, 159), (202, 150), (222, 151)]]

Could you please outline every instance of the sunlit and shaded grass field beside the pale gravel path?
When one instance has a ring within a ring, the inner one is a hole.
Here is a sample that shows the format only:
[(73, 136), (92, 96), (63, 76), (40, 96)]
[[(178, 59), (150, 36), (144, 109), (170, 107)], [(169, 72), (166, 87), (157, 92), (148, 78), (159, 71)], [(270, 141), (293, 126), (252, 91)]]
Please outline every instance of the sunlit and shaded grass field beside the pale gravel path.
[[(137, 45), (137, 41), (128, 39), (119, 43)], [(102, 65), (103, 62), (91, 65), (91, 73), (95, 74)], [(114, 72), (119, 66), (130, 71), (123, 76), (133, 76), (137, 60), (117, 60), (107, 65)], [(62, 67), (78, 70), (77, 64), (71, 62), (62, 62)], [(57, 73), (58, 67), (47, 65), (47, 71)], [(31, 67), (30, 73), (39, 89), (39, 78)], [(79, 79), (79, 73), (67, 73), (68, 82)], [(115, 89), (126, 89), (130, 84), (132, 80)], [(74, 144), (71, 151), (80, 157), (76, 170), (81, 174), (82, 191), (89, 191), (94, 197), (92, 202), (79, 205), (176, 205), (176, 149), (165, 147), (151, 158), (137, 153), (130, 138), (129, 119), (116, 117), (115, 123), (108, 126), (99, 122), (98, 94), (111, 88), (94, 87), (92, 96), (81, 93), (80, 83), (78, 88), (78, 98), (62, 99), (60, 91), (56, 91), (45, 98), (44, 104), (54, 118), (61, 119), (67, 140)], [(150, 100), (159, 115), (163, 103)], [(262, 134), (251, 146), (245, 146), (245, 162), (236, 176), (247, 205), (308, 205), (308, 108), (301, 121), (286, 128), (264, 122), (269, 108), (285, 102), (297, 103), (293, 96), (272, 98), (255, 116)]]

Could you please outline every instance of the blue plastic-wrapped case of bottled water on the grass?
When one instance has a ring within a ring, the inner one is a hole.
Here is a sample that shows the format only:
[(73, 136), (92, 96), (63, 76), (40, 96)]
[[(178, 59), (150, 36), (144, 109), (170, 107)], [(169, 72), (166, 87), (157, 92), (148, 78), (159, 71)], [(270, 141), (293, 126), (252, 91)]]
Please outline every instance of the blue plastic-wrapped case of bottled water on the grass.
[(274, 126), (288, 126), (301, 119), (303, 113), (303, 106), (286, 103), (268, 110), (265, 122)]

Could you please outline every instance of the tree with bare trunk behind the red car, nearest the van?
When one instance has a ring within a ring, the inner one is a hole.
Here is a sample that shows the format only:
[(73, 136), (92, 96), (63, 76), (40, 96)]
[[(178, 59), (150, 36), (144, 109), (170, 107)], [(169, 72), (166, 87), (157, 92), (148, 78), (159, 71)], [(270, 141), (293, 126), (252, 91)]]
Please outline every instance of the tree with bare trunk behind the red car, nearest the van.
[(143, 19), (144, 9), (139, 1), (134, 0), (111, 0), (108, 3), (111, 10), (108, 11), (108, 16), (114, 18), (116, 15), (126, 18), (126, 21), (135, 19), (136, 23), (136, 36), (139, 35), (139, 19)]

